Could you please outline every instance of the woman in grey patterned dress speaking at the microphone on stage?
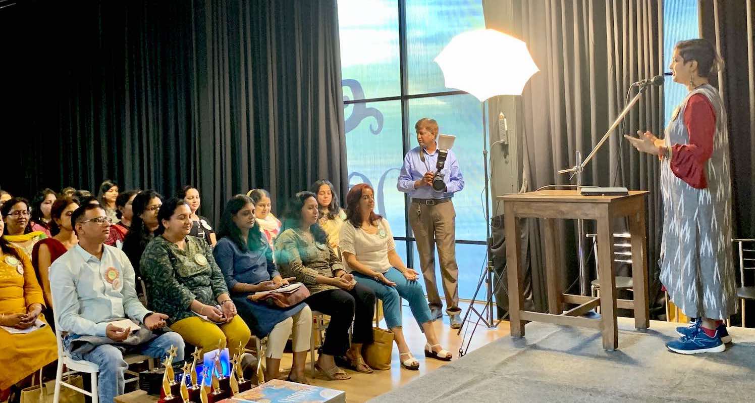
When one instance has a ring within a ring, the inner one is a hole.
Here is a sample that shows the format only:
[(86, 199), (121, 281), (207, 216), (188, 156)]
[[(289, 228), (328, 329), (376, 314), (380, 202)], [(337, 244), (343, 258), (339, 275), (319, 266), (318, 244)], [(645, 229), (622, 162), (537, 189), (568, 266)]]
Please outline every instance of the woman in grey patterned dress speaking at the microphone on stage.
[(666, 343), (681, 354), (723, 352), (731, 341), (723, 321), (737, 311), (729, 131), (723, 100), (708, 81), (722, 66), (707, 40), (676, 43), (670, 70), (689, 94), (664, 138), (624, 135), (637, 150), (661, 159), (661, 282), (684, 315), (695, 318), (676, 328), (679, 339)]

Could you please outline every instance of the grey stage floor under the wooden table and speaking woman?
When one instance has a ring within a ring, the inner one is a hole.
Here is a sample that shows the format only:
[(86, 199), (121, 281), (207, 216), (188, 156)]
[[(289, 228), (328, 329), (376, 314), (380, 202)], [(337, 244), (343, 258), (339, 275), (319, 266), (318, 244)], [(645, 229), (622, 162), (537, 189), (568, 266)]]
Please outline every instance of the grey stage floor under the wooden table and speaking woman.
[[(755, 401), (755, 329), (732, 327), (725, 352), (680, 355), (664, 343), (675, 323), (646, 333), (619, 318), (619, 349), (602, 349), (597, 330), (529, 323), (374, 403), (407, 401)], [(507, 323), (501, 326), (508, 326)]]

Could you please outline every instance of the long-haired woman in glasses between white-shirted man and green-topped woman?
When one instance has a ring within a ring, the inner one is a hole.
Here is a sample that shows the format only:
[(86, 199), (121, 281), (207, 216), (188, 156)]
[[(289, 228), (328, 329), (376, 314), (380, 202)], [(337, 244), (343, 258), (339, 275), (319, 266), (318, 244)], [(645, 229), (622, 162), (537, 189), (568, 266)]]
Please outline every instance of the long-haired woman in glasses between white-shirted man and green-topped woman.
[[(140, 271), (141, 256), (146, 248), (146, 244), (155, 236), (155, 230), (158, 228), (157, 212), (162, 206), (162, 197), (156, 191), (140, 191), (131, 202), (131, 209), (134, 211), (131, 221), (131, 231), (126, 234), (123, 240), (123, 252), (128, 256), (128, 261), (134, 266), (137, 279), (142, 277)], [(142, 293), (140, 284), (137, 284), (137, 291)]]

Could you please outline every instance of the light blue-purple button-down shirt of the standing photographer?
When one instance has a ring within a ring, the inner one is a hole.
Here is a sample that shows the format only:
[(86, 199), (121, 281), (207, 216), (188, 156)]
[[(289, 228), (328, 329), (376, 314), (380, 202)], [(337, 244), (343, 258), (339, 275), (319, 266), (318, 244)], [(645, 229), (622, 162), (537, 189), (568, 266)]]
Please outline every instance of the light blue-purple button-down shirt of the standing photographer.
[[(420, 150), (424, 154), (424, 161), (420, 158)], [(435, 191), (432, 186), (414, 188), (414, 181), (419, 181), (428, 171), (435, 172), (437, 163), (437, 149), (432, 154), (427, 153), (427, 150), (421, 147), (410, 150), (404, 157), (404, 165), (401, 167), (396, 188), (415, 199), (444, 199), (445, 197), (453, 197), (456, 192), (464, 189), (464, 177), (461, 176), (456, 154), (452, 150), (448, 150), (448, 156), (445, 157), (445, 165), (442, 170), (445, 191)]]

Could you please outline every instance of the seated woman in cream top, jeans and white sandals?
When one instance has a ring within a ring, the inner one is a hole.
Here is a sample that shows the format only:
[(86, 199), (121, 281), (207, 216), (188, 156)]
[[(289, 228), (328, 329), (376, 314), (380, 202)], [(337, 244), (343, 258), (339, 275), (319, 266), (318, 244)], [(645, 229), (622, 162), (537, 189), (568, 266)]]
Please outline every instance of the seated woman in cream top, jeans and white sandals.
[(407, 268), (396, 253), (388, 220), (374, 213), (372, 187), (368, 184), (354, 185), (346, 201), (347, 221), (341, 228), (341, 253), (346, 271), (353, 273), (357, 283), (369, 287), (383, 301), (385, 323), (393, 332), (402, 367), (410, 370), (420, 367), (404, 339), (402, 298), (409, 302), (411, 314), (427, 339), (425, 355), (442, 361), (451, 360), (451, 353), (438, 343), (424, 290), (417, 281), (417, 271)]

